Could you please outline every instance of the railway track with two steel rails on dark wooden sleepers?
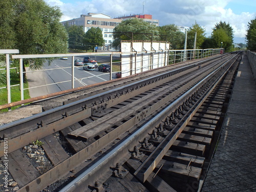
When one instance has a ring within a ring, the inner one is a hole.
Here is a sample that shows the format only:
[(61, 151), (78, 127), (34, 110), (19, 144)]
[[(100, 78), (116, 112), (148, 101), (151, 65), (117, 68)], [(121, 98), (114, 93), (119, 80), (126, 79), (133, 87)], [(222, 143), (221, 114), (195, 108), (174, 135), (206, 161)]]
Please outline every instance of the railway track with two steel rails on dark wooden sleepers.
[(200, 188), (240, 59), (232, 53), (163, 68), (0, 126), (18, 191)]

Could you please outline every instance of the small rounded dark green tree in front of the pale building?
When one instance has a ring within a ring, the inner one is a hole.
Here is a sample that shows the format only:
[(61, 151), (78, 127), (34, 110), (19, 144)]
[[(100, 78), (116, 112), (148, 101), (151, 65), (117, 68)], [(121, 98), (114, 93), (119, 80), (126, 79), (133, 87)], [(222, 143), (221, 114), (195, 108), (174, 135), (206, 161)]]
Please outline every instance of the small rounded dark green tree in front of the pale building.
[(92, 49), (92, 51), (94, 51), (96, 46), (103, 46), (104, 39), (102, 37), (101, 29), (99, 27), (91, 27), (84, 36), (83, 44), (89, 49)]

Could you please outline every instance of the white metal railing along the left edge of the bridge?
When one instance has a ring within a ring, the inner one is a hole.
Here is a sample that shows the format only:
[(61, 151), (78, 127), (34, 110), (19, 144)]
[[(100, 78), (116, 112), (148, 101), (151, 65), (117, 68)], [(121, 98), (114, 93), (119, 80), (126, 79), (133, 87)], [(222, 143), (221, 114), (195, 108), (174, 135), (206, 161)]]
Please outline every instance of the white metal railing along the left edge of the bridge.
[[(216, 55), (216, 54), (220, 54), (222, 49), (206, 49), (206, 50), (202, 50), (202, 49), (195, 49), (195, 50), (167, 50), (168, 52), (168, 65), (173, 64), (173, 63), (177, 63), (177, 62), (181, 62), (181, 61), (186, 61), (186, 60), (193, 60), (193, 59), (199, 59), (199, 58), (204, 58), (204, 57), (209, 57), (212, 55)], [(8, 92), (8, 103), (11, 103), (11, 87), (15, 87), (15, 86), (19, 86), (20, 88), (20, 100), (24, 100), (24, 90), (30, 90), (30, 89), (34, 89), (34, 88), (41, 88), (41, 87), (47, 87), (47, 86), (51, 86), (52, 84), (59, 84), (59, 83), (63, 83), (63, 82), (71, 82), (71, 87), (72, 89), (75, 88), (75, 81), (82, 81), (83, 79), (88, 79), (88, 78), (92, 78), (92, 77), (100, 77), (104, 74), (99, 74), (99, 75), (92, 75), (89, 77), (82, 77), (82, 78), (75, 78), (75, 67), (74, 64), (74, 60), (75, 60), (75, 56), (84, 56), (84, 55), (90, 55), (90, 56), (96, 56), (96, 55), (109, 55), (109, 60), (110, 62), (108, 62), (111, 66), (111, 71), (110, 71), (110, 80), (112, 79), (112, 75), (113, 73), (116, 72), (112, 72), (112, 65), (113, 63), (113, 55), (121, 55), (121, 54), (131, 54), (131, 55), (135, 55), (138, 54), (138, 52), (97, 52), (97, 53), (67, 53), (67, 54), (38, 54), (38, 55), (18, 55), (19, 51), (18, 50), (0, 50), (0, 54), (6, 54), (6, 68), (4, 69), (0, 69), (0, 70), (6, 70), (6, 75), (7, 75), (7, 86), (0, 88), (1, 89), (7, 89)], [(19, 71), (16, 68), (10, 68), (10, 54), (17, 54), (17, 55), (11, 55), (12, 59), (19, 59)], [(154, 54), (154, 53), (153, 53)], [(35, 71), (23, 71), (23, 59), (28, 59), (28, 58), (58, 58), (58, 57), (72, 57), (72, 65), (71, 67), (65, 67), (65, 68), (57, 68), (57, 69), (42, 69), (42, 70), (35, 70)], [(136, 62), (133, 59), (130, 60), (131, 62)], [(139, 62), (144, 62), (144, 61), (148, 61), (147, 60), (139, 60)], [(119, 61), (118, 61), (119, 62)], [(121, 61), (120, 61), (121, 62)], [(150, 63), (150, 61), (148, 61), (148, 63)], [(152, 63), (151, 63), (152, 65)], [(131, 65), (134, 66), (134, 65)], [(135, 65), (136, 66), (136, 65)], [(158, 67), (158, 64), (154, 64), (150, 67), (150, 69), (155, 69)], [(63, 81), (59, 81), (59, 82), (55, 82), (55, 83), (49, 83), (49, 84), (45, 84), (45, 85), (39, 85), (36, 87), (30, 87), (27, 89), (24, 89), (24, 73), (31, 73), (31, 72), (44, 72), (44, 71), (56, 71), (56, 70), (60, 70), (60, 69), (68, 69), (71, 68), (72, 69), (72, 76), (70, 80), (63, 80)], [(78, 67), (79, 68), (79, 67)], [(139, 69), (140, 68), (140, 69)], [(149, 69), (148, 67), (137, 67), (136, 69), (127, 69), (127, 70), (123, 70), (123, 71), (119, 71), (121, 73), (125, 73), (127, 71), (144, 71), (144, 69)], [(19, 84), (15, 84), (11, 86), (10, 83), (10, 69), (16, 69), (17, 73), (19, 73), (19, 77), (20, 77), (20, 83)]]

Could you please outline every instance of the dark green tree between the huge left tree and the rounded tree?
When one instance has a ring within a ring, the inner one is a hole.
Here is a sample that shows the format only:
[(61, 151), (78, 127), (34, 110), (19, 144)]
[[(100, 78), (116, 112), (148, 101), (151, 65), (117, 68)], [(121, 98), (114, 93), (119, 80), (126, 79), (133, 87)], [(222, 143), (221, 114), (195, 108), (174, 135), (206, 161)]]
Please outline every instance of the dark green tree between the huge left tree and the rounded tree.
[(77, 25), (69, 26), (68, 23), (66, 23), (65, 28), (67, 29), (67, 32), (69, 34), (69, 48), (84, 50), (84, 46), (82, 44), (85, 37), (83, 27)]

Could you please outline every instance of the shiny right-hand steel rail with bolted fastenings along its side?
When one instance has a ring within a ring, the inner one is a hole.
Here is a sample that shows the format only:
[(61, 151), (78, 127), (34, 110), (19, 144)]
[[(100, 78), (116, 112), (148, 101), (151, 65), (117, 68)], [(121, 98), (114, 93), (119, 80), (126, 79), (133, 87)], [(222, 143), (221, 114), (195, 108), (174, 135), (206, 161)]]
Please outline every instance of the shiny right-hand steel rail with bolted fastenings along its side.
[[(189, 89), (174, 102), (170, 103), (164, 110), (159, 112), (151, 120), (141, 126), (138, 131), (122, 141), (110, 153), (105, 155), (103, 158), (101, 158), (99, 161), (89, 167), (86, 171), (84, 171), (81, 175), (71, 181), (67, 186), (62, 188), (60, 192), (84, 191), (88, 186), (93, 186), (95, 181), (100, 180), (100, 172), (106, 173), (108, 172), (109, 167), (113, 167), (116, 163), (122, 164), (123, 162), (125, 162), (127, 159), (123, 160), (123, 157), (129, 157), (129, 152), (127, 152), (127, 149), (131, 150), (135, 145), (137, 145), (138, 141), (142, 141), (143, 138), (149, 133), (149, 130), (151, 130), (152, 127), (155, 127), (159, 123), (159, 119), (164, 119), (166, 117), (166, 114), (169, 114), (170, 111), (177, 109), (184, 100), (186, 100), (191, 94), (195, 93), (196, 90), (202, 87), (202, 84), (204, 84), (208, 79), (214, 76), (217, 71), (220, 71), (221, 69), (222, 66), (218, 67), (216, 70), (212, 71), (209, 75), (207, 75), (200, 82), (198, 82), (193, 88)], [(175, 132), (175, 134), (172, 136), (173, 138), (176, 139), (178, 137), (178, 135), (182, 131), (182, 127), (180, 127), (178, 130), (170, 132), (170, 134), (173, 134)], [(153, 164), (154, 166), (157, 165), (157, 163)]]

